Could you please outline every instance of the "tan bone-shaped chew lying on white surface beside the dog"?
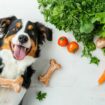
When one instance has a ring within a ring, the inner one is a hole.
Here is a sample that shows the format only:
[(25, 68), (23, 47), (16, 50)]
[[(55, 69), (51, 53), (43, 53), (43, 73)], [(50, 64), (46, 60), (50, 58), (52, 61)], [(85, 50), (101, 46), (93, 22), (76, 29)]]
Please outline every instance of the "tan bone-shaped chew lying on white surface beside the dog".
[(38, 77), (39, 81), (42, 82), (44, 85), (48, 86), (49, 80), (54, 71), (59, 70), (61, 65), (56, 62), (55, 59), (50, 60), (50, 67), (48, 68), (47, 72)]

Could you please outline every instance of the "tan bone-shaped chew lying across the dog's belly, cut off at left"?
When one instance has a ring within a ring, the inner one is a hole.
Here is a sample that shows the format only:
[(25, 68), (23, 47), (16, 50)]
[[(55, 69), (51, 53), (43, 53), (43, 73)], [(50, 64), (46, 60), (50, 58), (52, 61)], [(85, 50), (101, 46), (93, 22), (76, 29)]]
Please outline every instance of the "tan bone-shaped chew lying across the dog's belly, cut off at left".
[(11, 88), (17, 93), (20, 92), (22, 83), (23, 83), (22, 77), (18, 77), (15, 80), (0, 78), (0, 86), (1, 87)]

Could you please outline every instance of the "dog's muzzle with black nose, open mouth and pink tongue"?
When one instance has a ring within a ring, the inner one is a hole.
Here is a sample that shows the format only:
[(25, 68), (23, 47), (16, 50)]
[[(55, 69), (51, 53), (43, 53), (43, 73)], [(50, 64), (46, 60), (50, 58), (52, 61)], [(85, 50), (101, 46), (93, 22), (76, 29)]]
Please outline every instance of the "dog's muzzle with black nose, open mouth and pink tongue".
[(22, 60), (24, 59), (25, 56), (27, 56), (27, 54), (29, 53), (31, 46), (28, 47), (28, 42), (29, 42), (29, 38), (26, 35), (19, 35), (17, 37), (17, 43), (15, 41), (15, 43), (11, 42), (11, 50), (13, 53), (13, 56), (17, 59), (17, 60)]

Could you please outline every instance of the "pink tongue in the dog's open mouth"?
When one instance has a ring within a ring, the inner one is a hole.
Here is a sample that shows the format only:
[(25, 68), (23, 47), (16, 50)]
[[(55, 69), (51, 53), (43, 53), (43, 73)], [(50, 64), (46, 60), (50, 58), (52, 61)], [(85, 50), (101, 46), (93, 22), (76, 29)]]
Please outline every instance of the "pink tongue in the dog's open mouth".
[(25, 48), (18, 45), (15, 45), (13, 53), (14, 53), (14, 57), (18, 60), (22, 60), (26, 56)]

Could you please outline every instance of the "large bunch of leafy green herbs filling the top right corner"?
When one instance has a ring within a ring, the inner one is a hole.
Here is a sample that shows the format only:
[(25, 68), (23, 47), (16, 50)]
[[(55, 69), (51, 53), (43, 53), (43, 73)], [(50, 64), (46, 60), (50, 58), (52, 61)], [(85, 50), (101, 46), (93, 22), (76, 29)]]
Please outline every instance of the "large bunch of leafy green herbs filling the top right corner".
[[(98, 64), (93, 56), (95, 36), (105, 37), (105, 0), (38, 0), (45, 20), (59, 30), (73, 31), (84, 45), (83, 56)], [(92, 44), (91, 44), (92, 43)]]

